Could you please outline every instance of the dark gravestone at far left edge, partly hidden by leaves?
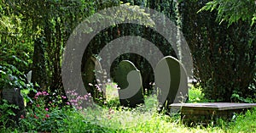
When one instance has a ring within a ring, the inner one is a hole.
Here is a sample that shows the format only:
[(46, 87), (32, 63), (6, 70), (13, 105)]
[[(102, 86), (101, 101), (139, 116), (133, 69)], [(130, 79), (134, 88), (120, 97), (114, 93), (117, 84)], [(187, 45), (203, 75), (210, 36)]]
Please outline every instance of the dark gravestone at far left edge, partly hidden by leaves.
[(23, 97), (20, 94), (20, 89), (3, 89), (2, 90), (3, 99), (8, 101), (10, 104), (15, 104), (19, 108), (13, 108), (13, 112), (15, 116), (11, 116), (9, 119), (18, 122), (20, 119), (21, 114), (25, 116), (25, 105)]

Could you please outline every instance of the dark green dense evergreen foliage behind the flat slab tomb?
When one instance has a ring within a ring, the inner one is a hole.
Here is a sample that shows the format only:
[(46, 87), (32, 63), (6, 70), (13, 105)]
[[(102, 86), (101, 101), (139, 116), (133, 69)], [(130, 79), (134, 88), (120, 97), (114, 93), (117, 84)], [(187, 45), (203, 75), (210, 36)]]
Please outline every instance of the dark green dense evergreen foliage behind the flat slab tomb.
[(244, 99), (255, 98), (256, 90), (249, 89), (256, 73), (255, 26), (243, 22), (219, 25), (215, 21), (218, 13), (197, 13), (206, 3), (190, 0), (180, 4), (183, 35), (205, 97), (215, 102), (241, 102), (232, 97), (239, 92)]

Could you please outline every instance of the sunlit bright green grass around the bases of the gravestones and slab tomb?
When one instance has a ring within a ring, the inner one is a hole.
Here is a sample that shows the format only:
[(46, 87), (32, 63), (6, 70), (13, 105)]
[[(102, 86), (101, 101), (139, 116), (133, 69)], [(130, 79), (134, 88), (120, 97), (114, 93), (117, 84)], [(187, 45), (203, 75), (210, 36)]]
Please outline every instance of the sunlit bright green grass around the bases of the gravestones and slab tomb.
[[(16, 129), (4, 129), (2, 132), (35, 132), (32, 128), (36, 130), (45, 128), (42, 131), (51, 132), (256, 132), (256, 108), (252, 111), (247, 111), (246, 114), (239, 114), (230, 123), (222, 121), (219, 125), (187, 127), (182, 124), (179, 114), (170, 117), (157, 113), (157, 100), (155, 96), (145, 97), (145, 104), (137, 108), (124, 108), (119, 106), (116, 86), (108, 85), (107, 94), (107, 100), (110, 104), (103, 108), (85, 108), (84, 110), (73, 108), (57, 108), (54, 110), (52, 108), (52, 112), (49, 115), (53, 118), (48, 119), (48, 125), (45, 122), (36, 125), (38, 119), (33, 119), (36, 121), (25, 125), (22, 123), (28, 122), (25, 120), (20, 121), (20, 127)], [(191, 87), (189, 90), (189, 102), (195, 103), (203, 100), (201, 88)], [(56, 117), (54, 117), (54, 113)], [(56, 123), (58, 125), (55, 125)], [(48, 129), (49, 125), (51, 126), (50, 129)], [(28, 126), (32, 128), (25, 130)], [(35, 126), (40, 127), (36, 128)]]

